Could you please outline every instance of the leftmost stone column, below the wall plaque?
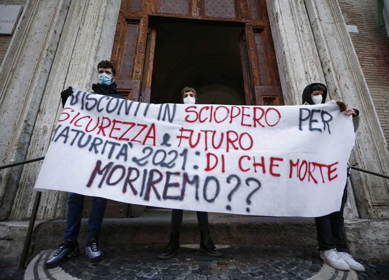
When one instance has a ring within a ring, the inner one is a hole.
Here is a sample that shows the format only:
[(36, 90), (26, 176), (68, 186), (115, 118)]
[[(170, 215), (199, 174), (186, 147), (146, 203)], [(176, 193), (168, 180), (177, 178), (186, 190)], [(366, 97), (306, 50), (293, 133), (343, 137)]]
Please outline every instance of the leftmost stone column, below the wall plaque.
[[(70, 2), (31, 0), (25, 5), (0, 68), (1, 165), (26, 159)], [(0, 220), (9, 217), (22, 169), (0, 172)]]

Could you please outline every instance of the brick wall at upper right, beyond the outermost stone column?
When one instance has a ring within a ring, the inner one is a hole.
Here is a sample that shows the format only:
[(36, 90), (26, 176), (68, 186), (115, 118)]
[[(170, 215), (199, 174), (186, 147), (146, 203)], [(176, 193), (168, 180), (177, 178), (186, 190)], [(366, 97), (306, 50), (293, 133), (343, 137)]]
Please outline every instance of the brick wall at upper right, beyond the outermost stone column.
[[(389, 143), (389, 37), (378, 23), (376, 0), (339, 0), (347, 24), (359, 33), (350, 33), (355, 52), (368, 84), (386, 141)], [(363, 112), (361, 112), (363, 114)]]

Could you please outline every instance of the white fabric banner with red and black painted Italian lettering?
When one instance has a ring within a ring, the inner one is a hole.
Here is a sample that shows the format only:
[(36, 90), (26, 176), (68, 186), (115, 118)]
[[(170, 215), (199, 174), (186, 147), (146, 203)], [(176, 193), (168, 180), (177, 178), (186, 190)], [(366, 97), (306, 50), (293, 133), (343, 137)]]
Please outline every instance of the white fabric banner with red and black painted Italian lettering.
[(264, 216), (340, 209), (354, 145), (337, 105), (146, 104), (74, 90), (35, 190)]

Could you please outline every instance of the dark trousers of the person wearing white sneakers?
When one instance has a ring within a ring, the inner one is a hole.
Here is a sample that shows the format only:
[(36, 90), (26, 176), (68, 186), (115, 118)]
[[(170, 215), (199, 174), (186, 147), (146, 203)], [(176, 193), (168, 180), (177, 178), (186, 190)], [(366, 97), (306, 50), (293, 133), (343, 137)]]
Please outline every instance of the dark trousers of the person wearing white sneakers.
[(319, 251), (336, 249), (338, 252), (349, 253), (349, 248), (344, 241), (343, 210), (347, 200), (347, 181), (344, 187), (340, 211), (315, 218), (318, 234)]

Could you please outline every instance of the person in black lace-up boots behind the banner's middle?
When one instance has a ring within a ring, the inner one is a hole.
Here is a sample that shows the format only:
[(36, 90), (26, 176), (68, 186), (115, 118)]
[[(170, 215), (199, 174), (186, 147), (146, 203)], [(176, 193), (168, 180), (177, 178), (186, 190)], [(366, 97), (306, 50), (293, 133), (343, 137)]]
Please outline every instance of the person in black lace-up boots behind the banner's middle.
[[(188, 105), (198, 104), (197, 93), (194, 88), (185, 87), (182, 89), (181, 103)], [(183, 213), (184, 211), (181, 209), (172, 209), (170, 240), (163, 252), (159, 255), (159, 259), (170, 259), (179, 249), (179, 232), (181, 230)], [(197, 211), (196, 214), (200, 229), (200, 250), (211, 257), (221, 256), (222, 253), (212, 243), (208, 224), (208, 212)]]

